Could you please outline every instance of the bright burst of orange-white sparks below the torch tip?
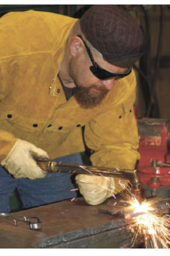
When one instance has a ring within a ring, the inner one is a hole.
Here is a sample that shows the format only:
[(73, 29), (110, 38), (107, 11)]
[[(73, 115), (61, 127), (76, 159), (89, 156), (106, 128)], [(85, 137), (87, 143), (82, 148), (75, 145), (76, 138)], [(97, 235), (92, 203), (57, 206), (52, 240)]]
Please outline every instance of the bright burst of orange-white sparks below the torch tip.
[(138, 236), (144, 237), (146, 248), (169, 248), (170, 245), (170, 216), (160, 216), (152, 207), (152, 202), (143, 201), (141, 204), (137, 199), (131, 197), (128, 201), (127, 214), (125, 219), (132, 219), (133, 224), (129, 229), (134, 233), (132, 247)]

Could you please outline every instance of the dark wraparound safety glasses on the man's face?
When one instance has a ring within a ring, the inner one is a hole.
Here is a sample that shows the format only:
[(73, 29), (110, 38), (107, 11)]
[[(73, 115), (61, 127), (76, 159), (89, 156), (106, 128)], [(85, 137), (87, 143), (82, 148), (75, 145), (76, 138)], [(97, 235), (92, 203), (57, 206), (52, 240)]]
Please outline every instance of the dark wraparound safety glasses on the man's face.
[(84, 43), (84, 46), (86, 47), (86, 51), (87, 51), (89, 58), (91, 60), (91, 63), (92, 63), (92, 66), (90, 66), (90, 71), (94, 74), (95, 77), (97, 77), (100, 80), (105, 80), (105, 79), (109, 79), (109, 78), (115, 78), (117, 80), (117, 79), (126, 77), (131, 73), (131, 71), (132, 71), (131, 68), (129, 68), (126, 73), (111, 73), (111, 72), (101, 68), (95, 62), (94, 57), (92, 56), (92, 53), (91, 53), (89, 47), (87, 46), (86, 42), (83, 40), (83, 38), (80, 35), (78, 35), (78, 37), (81, 38), (81, 40)]

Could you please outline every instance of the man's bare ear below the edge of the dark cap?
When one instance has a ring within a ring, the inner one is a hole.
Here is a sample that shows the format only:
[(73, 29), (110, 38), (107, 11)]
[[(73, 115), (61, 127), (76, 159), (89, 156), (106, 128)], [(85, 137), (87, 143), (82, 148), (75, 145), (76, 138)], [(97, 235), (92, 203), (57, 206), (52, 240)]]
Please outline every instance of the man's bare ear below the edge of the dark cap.
[(83, 42), (80, 37), (75, 36), (70, 40), (70, 54), (75, 57), (83, 51)]

